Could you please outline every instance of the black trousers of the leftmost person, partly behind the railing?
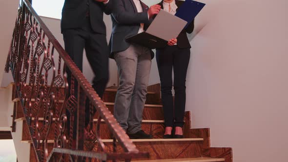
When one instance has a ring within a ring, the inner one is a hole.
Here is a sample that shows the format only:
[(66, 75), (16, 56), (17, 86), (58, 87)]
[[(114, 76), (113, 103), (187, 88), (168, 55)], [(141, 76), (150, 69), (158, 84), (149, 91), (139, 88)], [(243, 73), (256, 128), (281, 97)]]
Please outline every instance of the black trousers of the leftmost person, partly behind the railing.
[[(106, 35), (94, 32), (91, 29), (90, 19), (86, 18), (85, 23), (81, 28), (68, 29), (63, 31), (63, 39), (65, 44), (65, 51), (75, 62), (78, 68), (82, 71), (83, 65), (83, 49), (85, 49), (87, 60), (94, 72), (94, 79), (92, 86), (96, 90), (97, 94), (102, 98), (105, 91), (106, 84), (109, 80), (109, 48), (106, 41)], [(69, 94), (70, 94), (70, 83), (71, 83), (71, 72), (69, 69), (67, 72), (67, 80), (69, 83)], [(75, 97), (77, 98), (78, 93), (78, 83), (75, 81)], [(76, 108), (76, 107), (75, 107)], [(85, 107), (85, 126), (89, 123), (89, 104), (86, 101)], [(95, 110), (94, 110), (95, 112)], [(77, 113), (75, 113), (74, 118), (74, 131), (73, 136), (76, 137), (76, 127), (77, 127)], [(70, 112), (66, 111), (68, 118), (68, 128), (70, 125)], [(68, 131), (69, 132), (69, 131)]]

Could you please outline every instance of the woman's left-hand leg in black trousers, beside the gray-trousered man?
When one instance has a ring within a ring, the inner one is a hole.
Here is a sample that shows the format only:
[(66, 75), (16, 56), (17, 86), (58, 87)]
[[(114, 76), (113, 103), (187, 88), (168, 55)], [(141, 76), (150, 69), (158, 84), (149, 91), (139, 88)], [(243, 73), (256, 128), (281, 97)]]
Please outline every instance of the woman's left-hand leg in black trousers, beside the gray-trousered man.
[[(161, 50), (156, 50), (156, 61), (161, 81), (161, 97), (164, 109), (165, 126), (173, 127), (173, 98), (172, 98), (172, 66), (173, 58), (172, 51), (175, 47), (166, 47)], [(170, 128), (165, 131), (166, 134), (171, 134)]]

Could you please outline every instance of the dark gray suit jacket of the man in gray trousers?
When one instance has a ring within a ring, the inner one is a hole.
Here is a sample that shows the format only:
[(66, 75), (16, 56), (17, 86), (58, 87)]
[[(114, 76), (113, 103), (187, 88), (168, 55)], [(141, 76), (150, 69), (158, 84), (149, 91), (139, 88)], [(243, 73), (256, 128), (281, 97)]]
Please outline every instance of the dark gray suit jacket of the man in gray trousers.
[[(146, 30), (152, 19), (148, 20), (148, 9), (142, 1), (143, 12), (138, 13), (136, 5), (133, 0), (114, 0), (114, 10), (111, 15), (113, 29), (109, 42), (111, 48), (110, 58), (114, 59), (115, 52), (121, 52), (128, 49), (130, 43), (125, 39), (134, 36), (138, 33), (140, 24), (144, 23), (144, 30)], [(154, 53), (151, 50), (151, 58)]]

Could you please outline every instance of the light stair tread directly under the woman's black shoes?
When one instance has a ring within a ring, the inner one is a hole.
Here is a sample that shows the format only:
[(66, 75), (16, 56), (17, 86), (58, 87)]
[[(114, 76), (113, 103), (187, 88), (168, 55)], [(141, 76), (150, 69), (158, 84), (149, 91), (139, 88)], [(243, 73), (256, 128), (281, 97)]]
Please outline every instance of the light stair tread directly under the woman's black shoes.
[[(113, 142), (112, 139), (102, 140), (103, 142)], [(178, 142), (178, 141), (204, 141), (203, 138), (189, 139), (131, 139), (132, 142)], [(32, 143), (32, 140), (22, 140), (22, 143)], [(42, 142), (42, 141), (40, 141)], [(47, 140), (48, 143), (54, 143), (54, 140)]]

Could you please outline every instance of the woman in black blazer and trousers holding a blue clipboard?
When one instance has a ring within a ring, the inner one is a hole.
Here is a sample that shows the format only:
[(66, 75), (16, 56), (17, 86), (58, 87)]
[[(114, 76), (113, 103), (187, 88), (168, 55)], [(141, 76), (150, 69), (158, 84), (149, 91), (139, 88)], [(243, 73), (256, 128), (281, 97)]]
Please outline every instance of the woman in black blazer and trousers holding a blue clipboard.
[[(184, 1), (162, 0), (159, 5), (170, 14), (177, 12)], [(176, 24), (177, 25), (177, 24)], [(183, 138), (185, 101), (186, 101), (186, 72), (190, 59), (190, 43), (186, 33), (192, 33), (194, 20), (179, 34), (177, 43), (165, 48), (156, 49), (156, 60), (161, 81), (161, 95), (164, 108), (165, 134), (163, 138)], [(172, 69), (174, 82), (172, 81)], [(172, 85), (175, 100), (172, 98)], [(175, 108), (173, 108), (173, 105)], [(173, 135), (172, 128), (175, 128)]]

